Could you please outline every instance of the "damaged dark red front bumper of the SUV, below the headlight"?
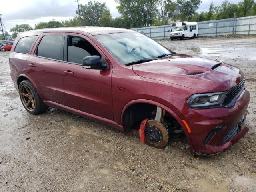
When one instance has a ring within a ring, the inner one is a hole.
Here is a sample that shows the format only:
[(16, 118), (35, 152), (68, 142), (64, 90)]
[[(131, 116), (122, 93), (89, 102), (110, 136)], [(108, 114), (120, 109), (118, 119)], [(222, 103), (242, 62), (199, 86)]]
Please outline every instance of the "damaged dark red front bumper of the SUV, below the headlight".
[[(248, 131), (244, 127), (232, 136), (228, 141), (225, 136), (236, 126), (246, 113), (250, 101), (250, 93), (247, 88), (237, 98), (234, 106), (230, 108), (219, 107), (212, 109), (189, 108), (180, 116), (190, 127), (192, 142), (192, 154), (213, 155), (225, 150), (236, 143)], [(222, 127), (220, 129), (216, 127)], [(211, 134), (212, 130), (213, 131)], [(210, 134), (210, 138), (209, 138)]]

